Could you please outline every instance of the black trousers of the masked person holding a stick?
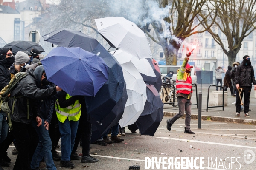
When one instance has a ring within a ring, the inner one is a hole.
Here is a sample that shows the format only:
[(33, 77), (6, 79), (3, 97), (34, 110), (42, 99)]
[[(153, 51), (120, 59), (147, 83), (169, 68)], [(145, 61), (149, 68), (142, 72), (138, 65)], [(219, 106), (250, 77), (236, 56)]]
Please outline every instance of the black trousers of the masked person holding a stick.
[[(244, 96), (244, 113), (248, 113), (249, 106), (250, 106), (251, 86), (240, 86), (240, 88), (243, 88), (242, 93), (240, 95), (241, 95), (241, 99), (243, 99), (243, 96)], [(239, 97), (239, 92), (238, 90), (236, 90), (236, 112), (240, 113), (240, 111), (241, 111), (241, 100)]]

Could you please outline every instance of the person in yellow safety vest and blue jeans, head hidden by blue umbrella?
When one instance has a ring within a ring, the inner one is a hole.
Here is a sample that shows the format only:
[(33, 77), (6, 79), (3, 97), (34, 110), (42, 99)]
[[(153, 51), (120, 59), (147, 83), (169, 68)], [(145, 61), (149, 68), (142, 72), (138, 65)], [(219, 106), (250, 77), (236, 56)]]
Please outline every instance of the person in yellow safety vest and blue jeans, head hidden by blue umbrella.
[(55, 103), (56, 114), (61, 133), (61, 167), (74, 168), (75, 164), (70, 161), (78, 128), (78, 120), (81, 116), (79, 96), (70, 96), (64, 91), (58, 94)]

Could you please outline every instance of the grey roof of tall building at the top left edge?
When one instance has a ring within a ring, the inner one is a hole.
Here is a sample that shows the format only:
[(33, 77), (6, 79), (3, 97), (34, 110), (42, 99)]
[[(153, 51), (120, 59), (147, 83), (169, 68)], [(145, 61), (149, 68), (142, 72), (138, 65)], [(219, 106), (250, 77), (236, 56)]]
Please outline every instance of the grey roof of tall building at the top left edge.
[(16, 9), (18, 11), (30, 11), (30, 7), (33, 8), (33, 11), (38, 11), (38, 8), (43, 10), (43, 6), (41, 5), (40, 1), (37, 0), (25, 0), (23, 2), (16, 3)]

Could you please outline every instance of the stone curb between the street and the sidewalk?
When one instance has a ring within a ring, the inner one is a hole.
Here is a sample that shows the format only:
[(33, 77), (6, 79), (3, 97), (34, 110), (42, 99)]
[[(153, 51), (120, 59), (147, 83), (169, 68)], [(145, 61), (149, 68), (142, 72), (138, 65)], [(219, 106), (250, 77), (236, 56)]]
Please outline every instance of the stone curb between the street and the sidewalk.
[[(163, 116), (173, 117), (178, 112), (163, 112)], [(184, 114), (182, 117), (186, 117)], [(198, 119), (197, 114), (191, 114), (191, 119)], [(239, 118), (232, 118), (232, 117), (218, 117), (218, 116), (207, 116), (202, 115), (202, 120), (212, 120), (212, 121), (219, 121), (219, 122), (231, 122), (231, 123), (241, 123), (241, 124), (251, 124), (256, 125), (256, 120), (253, 119), (239, 119)]]

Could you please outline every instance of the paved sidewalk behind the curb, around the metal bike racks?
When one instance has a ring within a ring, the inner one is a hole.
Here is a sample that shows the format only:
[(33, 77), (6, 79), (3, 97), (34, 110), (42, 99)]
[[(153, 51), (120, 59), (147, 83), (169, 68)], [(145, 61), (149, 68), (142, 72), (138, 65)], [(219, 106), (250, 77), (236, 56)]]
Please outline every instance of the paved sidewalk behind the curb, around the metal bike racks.
[[(209, 115), (209, 116), (221, 116), (221, 117), (234, 117), (236, 114), (236, 107), (235, 105), (231, 104), (236, 101), (236, 97), (232, 97), (230, 94), (230, 90), (228, 88), (228, 105), (224, 107), (224, 111), (222, 111), (222, 108), (209, 108), (208, 112), (206, 111), (206, 105), (207, 105), (207, 91), (208, 91), (209, 85), (202, 85), (202, 115)], [(198, 85), (198, 91), (200, 91), (200, 85)], [(215, 87), (211, 86), (210, 92), (215, 91)], [(195, 88), (193, 88), (194, 94), (192, 95), (192, 103), (196, 103), (196, 96), (195, 96)], [(240, 113), (241, 119), (256, 119), (256, 98), (254, 98), (255, 91), (252, 90), (250, 95), (250, 109), (249, 112), (250, 118), (247, 118), (244, 116), (244, 112)], [(178, 108), (172, 107), (172, 105), (165, 104), (164, 105), (164, 111), (169, 112), (178, 112)], [(198, 109), (196, 106), (192, 106), (192, 114), (198, 114)]]

